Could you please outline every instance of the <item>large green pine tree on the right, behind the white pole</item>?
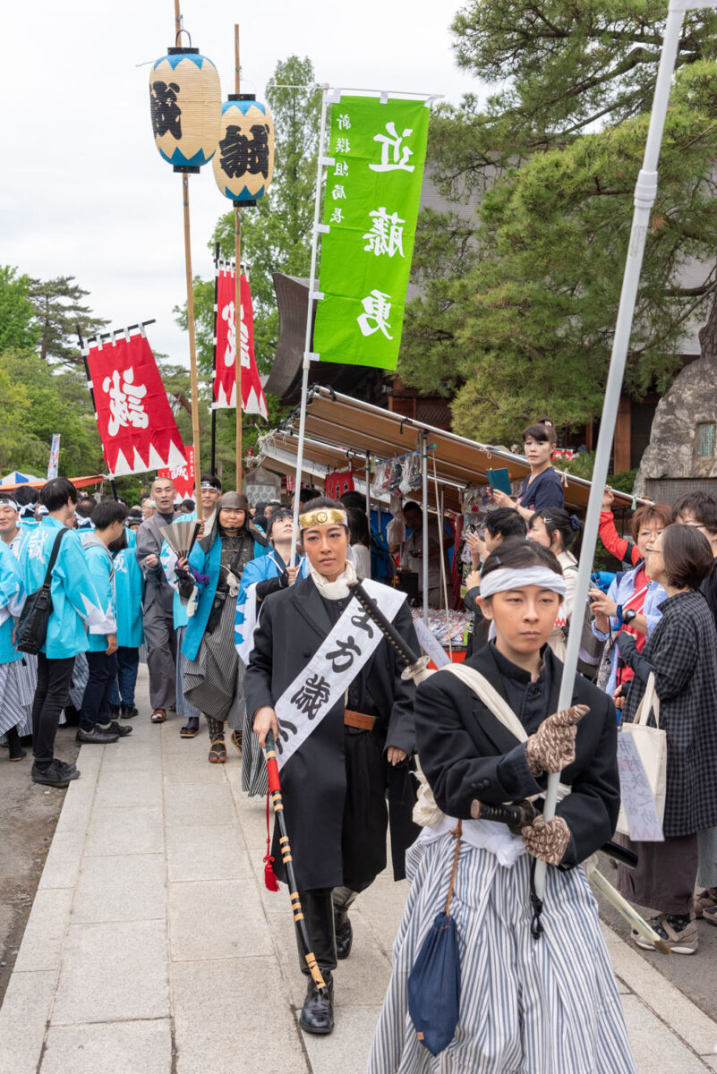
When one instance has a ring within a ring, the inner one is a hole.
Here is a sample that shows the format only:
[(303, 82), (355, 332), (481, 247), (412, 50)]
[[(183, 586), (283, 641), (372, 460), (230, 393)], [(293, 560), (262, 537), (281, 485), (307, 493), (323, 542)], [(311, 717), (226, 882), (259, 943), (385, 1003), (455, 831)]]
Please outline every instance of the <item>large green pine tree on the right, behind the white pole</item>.
[[(423, 296), (399, 368), (424, 391), (457, 391), (462, 433), (499, 442), (538, 411), (568, 427), (600, 413), (663, 17), (652, 0), (471, 2), (456, 17), (459, 62), (500, 89), (431, 125), (443, 189), (481, 202), (472, 219), (422, 217)], [(686, 325), (715, 303), (716, 28), (694, 13), (681, 42), (626, 377), (635, 397), (667, 388)], [(688, 263), (704, 268), (685, 289)]]

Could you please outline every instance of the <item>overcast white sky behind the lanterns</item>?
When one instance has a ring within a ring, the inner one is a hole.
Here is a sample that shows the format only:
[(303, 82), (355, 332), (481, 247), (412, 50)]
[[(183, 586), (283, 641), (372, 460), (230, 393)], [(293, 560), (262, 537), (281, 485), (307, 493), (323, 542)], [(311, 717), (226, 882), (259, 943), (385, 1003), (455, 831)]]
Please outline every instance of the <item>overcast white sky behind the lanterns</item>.
[[(185, 0), (192, 45), (234, 90), (234, 23), (242, 89), (261, 100), (277, 60), (309, 56), (318, 82), (443, 93), (477, 89), (458, 71), (449, 25), (459, 0)], [(186, 296), (181, 179), (155, 148), (148, 67), (173, 44), (172, 0), (15, 0), (3, 13), (0, 66), (0, 264), (48, 279), (75, 276), (109, 326), (151, 317), (155, 350), (188, 363), (172, 307)], [(182, 37), (182, 42), (186, 42)], [(190, 177), (193, 272), (230, 202), (211, 165)]]

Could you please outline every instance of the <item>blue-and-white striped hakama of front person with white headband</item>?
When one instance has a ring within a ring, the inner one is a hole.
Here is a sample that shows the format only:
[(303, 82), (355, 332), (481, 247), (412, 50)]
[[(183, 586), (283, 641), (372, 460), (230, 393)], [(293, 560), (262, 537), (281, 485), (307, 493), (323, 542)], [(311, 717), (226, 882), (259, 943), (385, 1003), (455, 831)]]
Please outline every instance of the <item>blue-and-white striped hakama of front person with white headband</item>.
[[(428, 837), (430, 838), (430, 837)], [(462, 842), (451, 915), (460, 950), (460, 1013), (440, 1055), (422, 1045), (406, 983), (445, 906), (455, 842), (421, 837), (406, 856), (411, 890), (367, 1074), (634, 1074), (597, 903), (582, 868), (548, 868), (539, 940), (530, 934), (530, 869)]]

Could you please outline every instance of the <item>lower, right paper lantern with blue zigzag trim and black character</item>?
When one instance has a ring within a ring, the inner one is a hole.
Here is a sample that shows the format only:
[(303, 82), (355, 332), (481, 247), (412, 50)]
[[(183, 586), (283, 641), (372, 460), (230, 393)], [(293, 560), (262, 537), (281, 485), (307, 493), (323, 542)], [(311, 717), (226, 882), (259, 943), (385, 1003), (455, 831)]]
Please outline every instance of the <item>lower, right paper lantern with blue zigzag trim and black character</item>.
[(274, 120), (254, 93), (230, 93), (221, 106), (219, 148), (211, 161), (217, 186), (242, 208), (254, 205), (274, 174)]

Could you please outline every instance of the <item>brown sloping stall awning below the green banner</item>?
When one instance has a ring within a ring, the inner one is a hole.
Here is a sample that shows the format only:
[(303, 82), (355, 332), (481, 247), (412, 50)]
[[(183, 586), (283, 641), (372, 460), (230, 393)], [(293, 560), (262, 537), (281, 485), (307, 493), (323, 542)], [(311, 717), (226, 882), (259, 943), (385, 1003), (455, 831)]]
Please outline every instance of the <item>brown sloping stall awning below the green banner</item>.
[[(328, 473), (346, 469), (347, 463), (350, 463), (359, 476), (365, 466), (366, 452), (379, 461), (409, 454), (421, 447), (424, 431), (430, 449), (428, 454), (435, 459), (438, 481), (444, 489), (448, 510), (459, 511), (460, 491), (469, 485), (485, 484), (488, 469), (506, 467), (511, 481), (522, 481), (530, 473), (523, 455), (478, 444), (350, 395), (341, 395), (330, 388), (318, 387), (311, 389), (306, 408), (305, 458), (312, 464), (311, 473), (314, 475), (313, 466), (323, 467), (324, 473)], [(270, 466), (272, 451), (281, 452), (282, 462), (287, 464), (289, 460), (296, 459), (297, 444), (298, 413), (295, 412), (280, 430), (261, 438), (260, 458)], [(433, 478), (430, 459), (428, 471)], [(566, 507), (573, 510), (587, 507), (590, 482), (585, 478), (566, 474), (564, 490)], [(421, 497), (412, 494), (412, 498)], [(632, 503), (631, 495), (615, 492), (615, 509), (630, 510)]]

